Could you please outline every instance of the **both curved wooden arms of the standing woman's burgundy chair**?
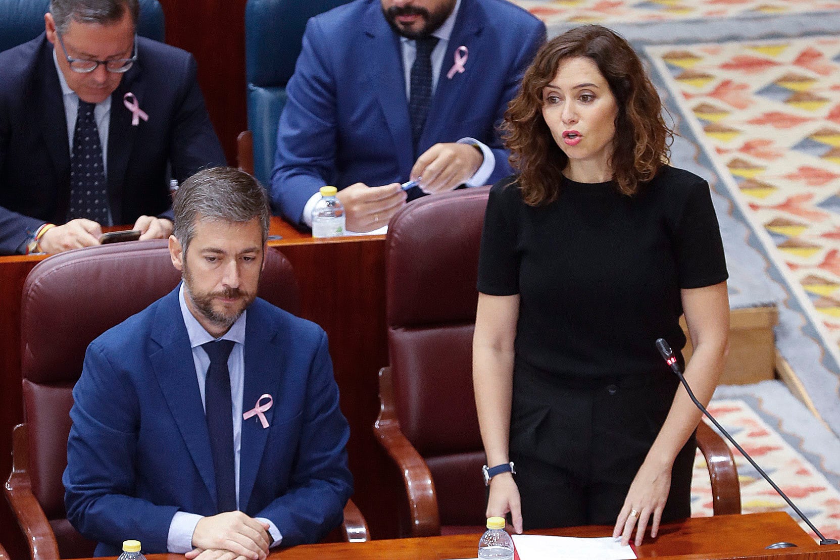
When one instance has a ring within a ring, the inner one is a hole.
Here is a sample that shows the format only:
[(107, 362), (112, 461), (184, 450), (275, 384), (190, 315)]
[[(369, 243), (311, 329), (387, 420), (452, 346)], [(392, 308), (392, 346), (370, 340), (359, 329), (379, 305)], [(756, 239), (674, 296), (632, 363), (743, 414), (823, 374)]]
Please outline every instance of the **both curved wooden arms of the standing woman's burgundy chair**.
[[(417, 449), (400, 429), (394, 406), (391, 368), (379, 371), (380, 412), (373, 431), (377, 441), (396, 463), (402, 474), (408, 499), (411, 536), (440, 535), (438, 499), (435, 497), (432, 473)], [(697, 427), (697, 447), (700, 448), (711, 478), (711, 495), (716, 516), (741, 513), (741, 488), (738, 469), (732, 452), (723, 438), (701, 421)], [(479, 476), (478, 473), (475, 476)]]

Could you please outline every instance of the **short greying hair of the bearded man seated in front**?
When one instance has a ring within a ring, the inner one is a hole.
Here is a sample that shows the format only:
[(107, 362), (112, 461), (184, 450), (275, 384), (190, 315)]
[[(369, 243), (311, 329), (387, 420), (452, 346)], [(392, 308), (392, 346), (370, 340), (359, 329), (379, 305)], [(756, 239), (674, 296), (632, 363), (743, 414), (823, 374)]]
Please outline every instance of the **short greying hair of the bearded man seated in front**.
[(195, 237), (197, 220), (244, 223), (260, 218), (262, 244), (268, 239), (268, 195), (253, 176), (234, 167), (211, 167), (192, 175), (178, 187), (172, 211), (172, 234), (182, 254)]

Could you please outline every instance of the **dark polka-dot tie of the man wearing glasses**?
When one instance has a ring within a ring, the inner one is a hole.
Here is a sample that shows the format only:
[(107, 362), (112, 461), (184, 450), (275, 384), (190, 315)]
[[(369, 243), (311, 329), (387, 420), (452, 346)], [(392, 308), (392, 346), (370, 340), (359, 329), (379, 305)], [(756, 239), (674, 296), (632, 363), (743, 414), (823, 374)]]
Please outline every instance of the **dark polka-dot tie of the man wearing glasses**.
[(94, 116), (94, 103), (79, 100), (73, 153), (70, 156), (70, 206), (67, 221), (87, 217), (102, 225), (110, 225), (105, 167), (102, 145)]

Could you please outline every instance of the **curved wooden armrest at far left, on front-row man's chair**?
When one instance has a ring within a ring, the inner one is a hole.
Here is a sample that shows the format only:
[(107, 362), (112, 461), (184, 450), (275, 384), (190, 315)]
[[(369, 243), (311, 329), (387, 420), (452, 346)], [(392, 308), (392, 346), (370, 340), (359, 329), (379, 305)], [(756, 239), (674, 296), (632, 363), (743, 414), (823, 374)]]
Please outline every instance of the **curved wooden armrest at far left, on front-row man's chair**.
[(29, 432), (26, 424), (14, 427), (12, 436), (12, 473), (8, 475), (6, 500), (11, 506), (18, 525), (29, 543), (32, 560), (55, 560), (59, 557), (50, 521), (32, 494), (29, 479)]

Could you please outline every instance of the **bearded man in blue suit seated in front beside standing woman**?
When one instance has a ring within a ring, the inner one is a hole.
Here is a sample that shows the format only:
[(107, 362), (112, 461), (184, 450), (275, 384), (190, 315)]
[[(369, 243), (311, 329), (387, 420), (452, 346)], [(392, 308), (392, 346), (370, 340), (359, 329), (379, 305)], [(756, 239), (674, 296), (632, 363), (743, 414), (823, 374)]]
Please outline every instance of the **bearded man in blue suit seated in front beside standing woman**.
[(97, 556), (134, 538), (200, 560), (317, 542), (353, 491), (349, 427), (326, 334), (256, 297), (268, 197), (242, 171), (202, 170), (174, 212), (181, 285), (87, 348), (67, 518)]

